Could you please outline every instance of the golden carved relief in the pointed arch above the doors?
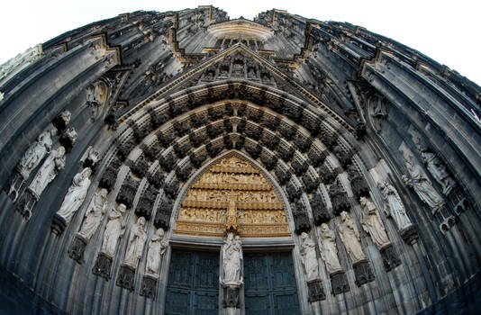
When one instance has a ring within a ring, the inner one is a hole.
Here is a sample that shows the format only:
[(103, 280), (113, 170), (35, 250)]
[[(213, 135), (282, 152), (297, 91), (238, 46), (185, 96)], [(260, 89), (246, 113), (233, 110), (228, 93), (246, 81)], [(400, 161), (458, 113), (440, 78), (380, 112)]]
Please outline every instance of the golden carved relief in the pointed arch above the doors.
[(289, 236), (284, 205), (259, 171), (226, 157), (190, 187), (178, 214), (177, 234), (242, 238)]

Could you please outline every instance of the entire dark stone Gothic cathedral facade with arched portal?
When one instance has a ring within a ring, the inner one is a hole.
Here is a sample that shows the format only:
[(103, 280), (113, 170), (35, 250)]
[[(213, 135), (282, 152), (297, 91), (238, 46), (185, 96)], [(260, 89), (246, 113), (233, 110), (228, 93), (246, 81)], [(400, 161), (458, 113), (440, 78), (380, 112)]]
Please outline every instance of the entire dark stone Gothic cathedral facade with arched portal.
[(414, 49), (199, 6), (0, 71), (0, 314), (481, 305), (481, 88)]

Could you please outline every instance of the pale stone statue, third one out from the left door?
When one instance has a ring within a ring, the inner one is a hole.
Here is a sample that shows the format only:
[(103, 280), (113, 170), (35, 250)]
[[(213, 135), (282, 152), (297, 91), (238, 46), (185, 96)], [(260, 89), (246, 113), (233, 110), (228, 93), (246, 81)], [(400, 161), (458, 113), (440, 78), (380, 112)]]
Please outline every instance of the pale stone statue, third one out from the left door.
[(119, 238), (123, 235), (125, 229), (125, 220), (123, 219), (123, 213), (127, 207), (125, 204), (119, 204), (118, 208), (112, 209), (109, 214), (109, 221), (104, 231), (104, 243), (102, 243), (102, 252), (113, 257), (115, 255), (115, 248)]

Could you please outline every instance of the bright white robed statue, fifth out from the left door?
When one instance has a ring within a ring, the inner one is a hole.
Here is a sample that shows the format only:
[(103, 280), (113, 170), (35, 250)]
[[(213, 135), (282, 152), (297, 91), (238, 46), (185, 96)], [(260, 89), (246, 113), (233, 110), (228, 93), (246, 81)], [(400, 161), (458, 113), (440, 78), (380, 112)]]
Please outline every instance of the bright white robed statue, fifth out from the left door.
[(66, 224), (72, 220), (75, 212), (86, 199), (86, 191), (90, 186), (90, 175), (92, 175), (92, 170), (89, 167), (84, 168), (82, 172), (74, 176), (72, 185), (68, 188), (62, 205), (57, 211), (57, 214), (65, 220)]

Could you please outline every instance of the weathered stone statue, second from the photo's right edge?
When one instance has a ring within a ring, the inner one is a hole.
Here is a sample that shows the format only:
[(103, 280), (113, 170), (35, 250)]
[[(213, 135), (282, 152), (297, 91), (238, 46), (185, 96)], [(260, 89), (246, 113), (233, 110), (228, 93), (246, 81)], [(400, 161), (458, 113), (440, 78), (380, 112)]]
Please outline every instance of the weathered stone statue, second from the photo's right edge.
[(444, 205), (444, 201), (440, 194), (434, 189), (431, 181), (422, 171), (418, 164), (413, 164), (410, 161), (405, 162), (406, 169), (409, 173), (403, 175), (403, 182), (414, 189), (414, 192), (419, 196), (422, 202), (430, 206), (431, 211), (437, 211)]

